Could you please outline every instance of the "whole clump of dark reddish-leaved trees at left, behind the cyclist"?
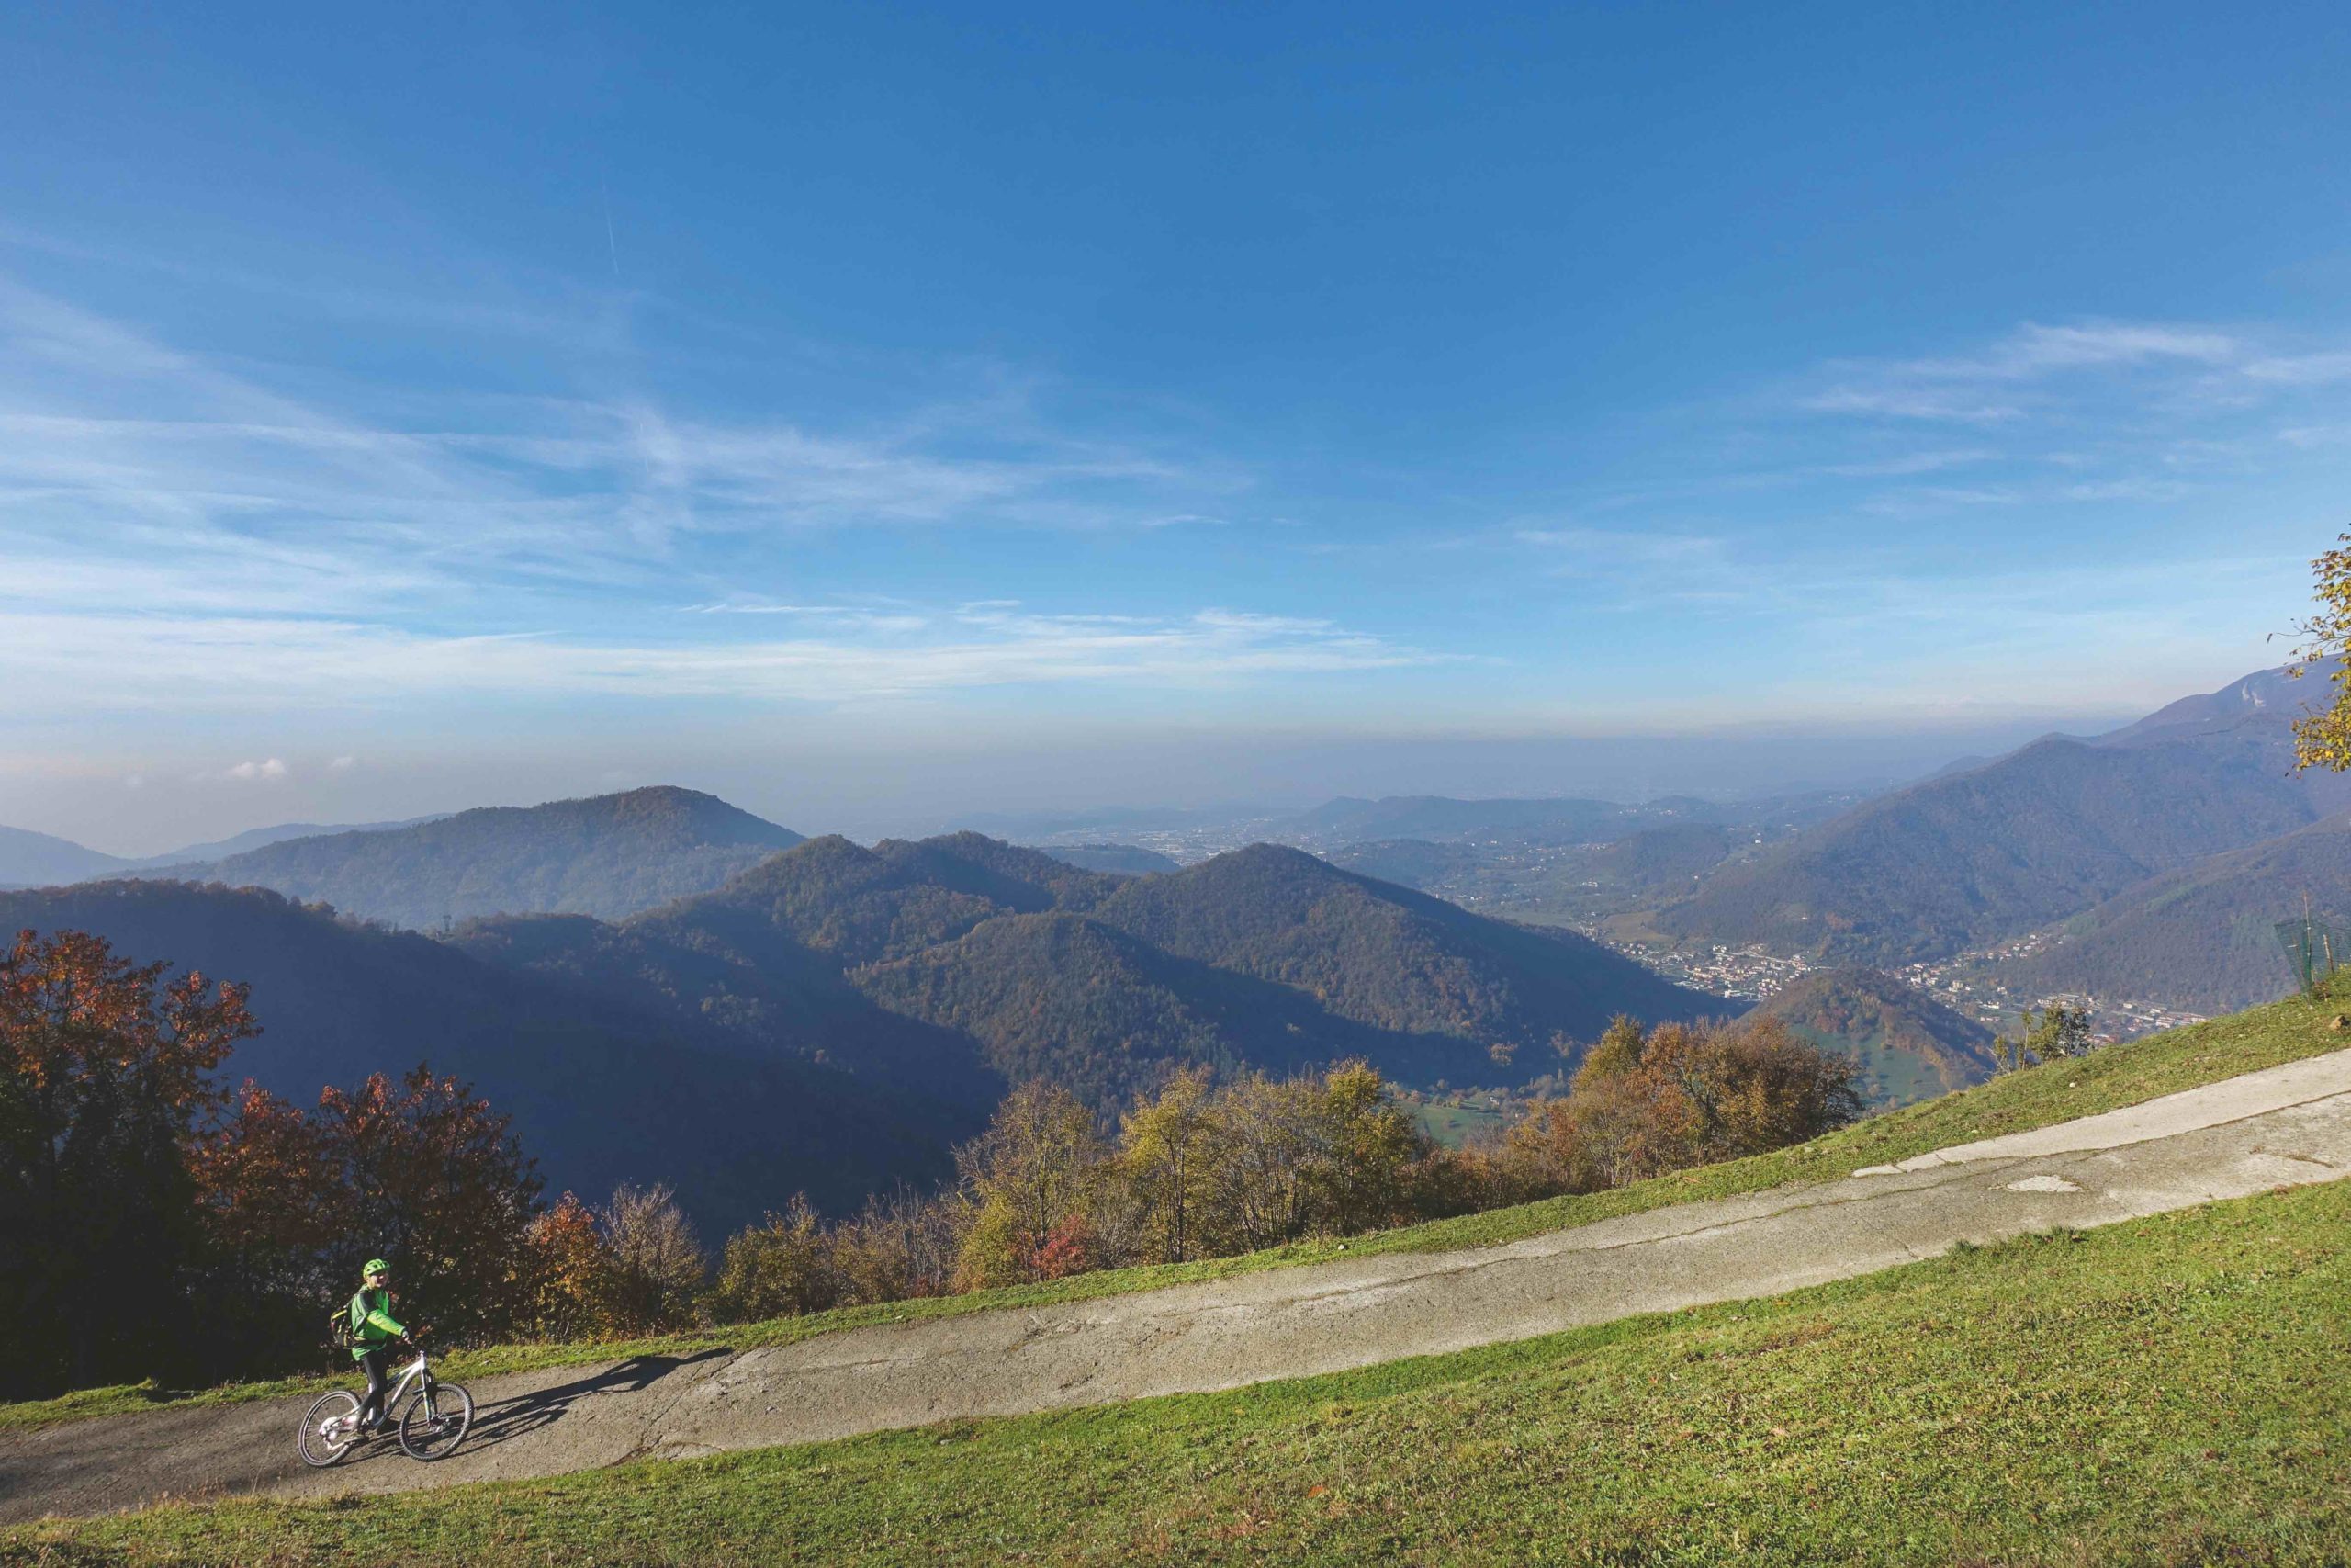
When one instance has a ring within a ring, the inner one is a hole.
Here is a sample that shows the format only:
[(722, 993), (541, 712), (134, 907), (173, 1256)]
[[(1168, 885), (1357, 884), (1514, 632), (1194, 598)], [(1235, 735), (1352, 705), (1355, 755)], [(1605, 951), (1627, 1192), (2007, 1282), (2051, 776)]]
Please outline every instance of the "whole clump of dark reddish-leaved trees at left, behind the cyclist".
[(534, 1321), (538, 1175), (508, 1119), (416, 1067), (296, 1105), (221, 1088), (242, 985), (82, 931), (0, 959), (0, 1389), (277, 1373), (360, 1265), (451, 1340)]

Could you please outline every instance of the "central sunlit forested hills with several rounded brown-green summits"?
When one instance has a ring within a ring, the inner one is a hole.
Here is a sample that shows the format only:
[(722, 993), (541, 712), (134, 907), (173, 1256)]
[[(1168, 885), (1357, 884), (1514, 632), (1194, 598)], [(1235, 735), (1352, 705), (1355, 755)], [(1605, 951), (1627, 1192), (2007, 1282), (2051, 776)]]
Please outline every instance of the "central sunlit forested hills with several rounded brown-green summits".
[[(1726, 1009), (1582, 938), (1270, 846), (1126, 879), (976, 832), (811, 839), (618, 926), (494, 919), (454, 940), (759, 1039), (851, 990), (969, 1041), (973, 1065), (1051, 1077), (1103, 1114), (1180, 1065), (1288, 1072), (1361, 1056), (1408, 1084), (1514, 1084), (1559, 1067), (1554, 1034), (1589, 1041), (1620, 1011)], [(802, 1034), (858, 1074), (950, 1072), (924, 1058), (936, 1037)]]

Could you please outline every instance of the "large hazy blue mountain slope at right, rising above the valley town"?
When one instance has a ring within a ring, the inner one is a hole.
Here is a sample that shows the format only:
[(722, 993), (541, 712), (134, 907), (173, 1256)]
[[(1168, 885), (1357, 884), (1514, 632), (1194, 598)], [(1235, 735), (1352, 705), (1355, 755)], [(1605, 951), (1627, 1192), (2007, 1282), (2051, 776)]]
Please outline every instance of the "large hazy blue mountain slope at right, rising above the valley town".
[(2292, 771), (2311, 689), (2271, 670), (2097, 741), (2052, 736), (1864, 802), (1721, 870), (1657, 924), (1878, 964), (2022, 936), (2351, 806), (2351, 778)]

